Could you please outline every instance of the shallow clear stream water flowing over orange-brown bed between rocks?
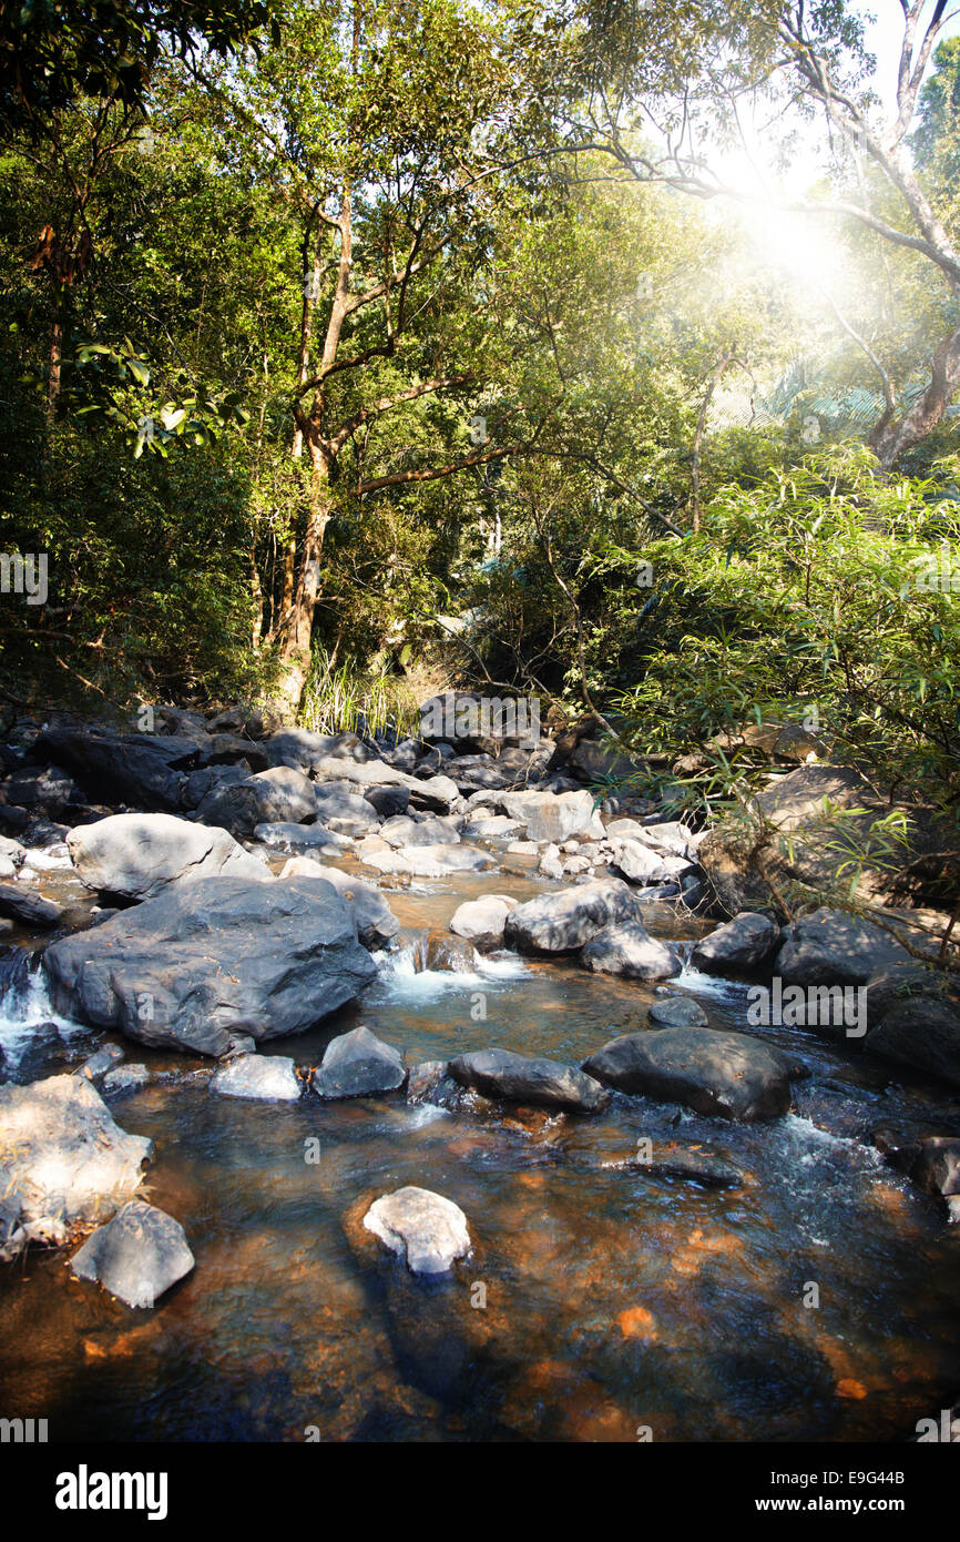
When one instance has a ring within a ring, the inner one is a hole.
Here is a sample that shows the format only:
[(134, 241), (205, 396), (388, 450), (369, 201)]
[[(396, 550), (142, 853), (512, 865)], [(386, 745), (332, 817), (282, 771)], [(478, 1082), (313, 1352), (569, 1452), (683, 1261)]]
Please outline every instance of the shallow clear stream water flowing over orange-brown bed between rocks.
[[(388, 893), (402, 933), (362, 1004), (268, 1052), (316, 1066), (364, 1022), (410, 1064), (490, 1045), (581, 1061), (641, 1027), (655, 987), (481, 959), (445, 931), (464, 897), (544, 887), (515, 871)], [(14, 959), (8, 1062), (51, 1032)], [(744, 987), (673, 984), (746, 1029)], [(66, 1053), (92, 1042), (60, 1027)], [(754, 1126), (623, 1096), (593, 1118), (245, 1103), (211, 1095), (199, 1062), (128, 1045), (162, 1075), (114, 1113), (154, 1140), (145, 1197), (180, 1220), (196, 1271), (151, 1312), (71, 1281), (63, 1254), (0, 1271), (0, 1406), (48, 1419), (52, 1440), (909, 1437), (960, 1388), (960, 1226), (869, 1132), (960, 1132), (960, 1107), (803, 1030), (761, 1036), (812, 1075), (789, 1115)], [(726, 1156), (744, 1184), (646, 1175), (641, 1138)], [(368, 1203), (402, 1184), (465, 1212), (475, 1252), (453, 1278), (415, 1280), (364, 1241)]]

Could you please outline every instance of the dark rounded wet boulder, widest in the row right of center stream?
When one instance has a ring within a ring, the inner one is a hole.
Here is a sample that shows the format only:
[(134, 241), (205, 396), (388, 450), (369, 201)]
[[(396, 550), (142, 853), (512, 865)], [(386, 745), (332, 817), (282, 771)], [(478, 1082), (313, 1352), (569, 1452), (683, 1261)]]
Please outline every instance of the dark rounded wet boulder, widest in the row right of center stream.
[(590, 1055), (584, 1070), (621, 1092), (681, 1103), (723, 1119), (775, 1119), (790, 1107), (786, 1061), (744, 1033), (626, 1033)]

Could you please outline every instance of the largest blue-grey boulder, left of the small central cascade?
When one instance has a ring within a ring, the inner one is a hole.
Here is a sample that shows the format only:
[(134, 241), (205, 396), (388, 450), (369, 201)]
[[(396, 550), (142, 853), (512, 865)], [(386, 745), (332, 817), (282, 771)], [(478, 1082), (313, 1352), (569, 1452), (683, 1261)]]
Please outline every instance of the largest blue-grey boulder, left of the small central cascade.
[(170, 885), (45, 953), (60, 1010), (143, 1044), (222, 1055), (231, 1033), (300, 1033), (370, 984), (337, 891), (313, 879)]

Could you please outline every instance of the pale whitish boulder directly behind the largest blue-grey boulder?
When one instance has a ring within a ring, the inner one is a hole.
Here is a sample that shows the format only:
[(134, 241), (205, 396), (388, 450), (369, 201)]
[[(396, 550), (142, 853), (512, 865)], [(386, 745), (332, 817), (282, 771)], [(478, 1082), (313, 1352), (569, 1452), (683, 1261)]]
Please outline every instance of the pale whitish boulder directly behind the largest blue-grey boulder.
[(111, 814), (77, 825), (66, 837), (88, 888), (125, 899), (153, 899), (180, 879), (268, 879), (270, 871), (225, 830), (208, 830), (174, 814)]

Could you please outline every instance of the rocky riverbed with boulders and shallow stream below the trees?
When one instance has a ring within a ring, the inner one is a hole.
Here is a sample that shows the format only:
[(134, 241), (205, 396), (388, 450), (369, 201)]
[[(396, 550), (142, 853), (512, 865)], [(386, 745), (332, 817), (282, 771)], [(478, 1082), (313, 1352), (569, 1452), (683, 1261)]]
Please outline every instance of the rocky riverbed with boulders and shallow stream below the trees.
[(915, 917), (729, 902), (723, 831), (549, 743), (163, 726), (3, 752), (5, 1408), (858, 1440), (951, 1405), (960, 1010)]

